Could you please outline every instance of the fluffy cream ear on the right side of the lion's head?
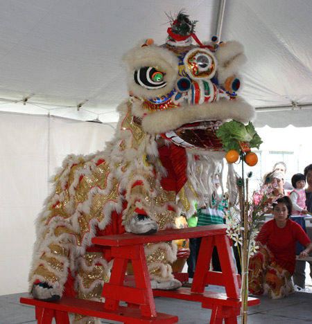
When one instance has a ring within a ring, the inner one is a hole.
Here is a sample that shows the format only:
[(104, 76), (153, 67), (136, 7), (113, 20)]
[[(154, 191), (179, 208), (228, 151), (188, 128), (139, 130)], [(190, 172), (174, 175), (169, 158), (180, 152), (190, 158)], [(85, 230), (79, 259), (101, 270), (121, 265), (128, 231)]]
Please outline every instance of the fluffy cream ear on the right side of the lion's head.
[(214, 55), (218, 60), (218, 82), (220, 84), (223, 84), (229, 76), (236, 75), (241, 65), (247, 60), (243, 45), (235, 41), (220, 45)]

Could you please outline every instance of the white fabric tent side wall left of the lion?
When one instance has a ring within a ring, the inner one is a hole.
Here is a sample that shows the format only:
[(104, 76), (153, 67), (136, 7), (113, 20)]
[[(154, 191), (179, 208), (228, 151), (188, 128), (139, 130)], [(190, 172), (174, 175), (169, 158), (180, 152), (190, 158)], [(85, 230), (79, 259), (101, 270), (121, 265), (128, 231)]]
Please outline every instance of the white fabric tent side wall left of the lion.
[(103, 150), (116, 124), (0, 113), (0, 296), (28, 290), (34, 221), (68, 154)]

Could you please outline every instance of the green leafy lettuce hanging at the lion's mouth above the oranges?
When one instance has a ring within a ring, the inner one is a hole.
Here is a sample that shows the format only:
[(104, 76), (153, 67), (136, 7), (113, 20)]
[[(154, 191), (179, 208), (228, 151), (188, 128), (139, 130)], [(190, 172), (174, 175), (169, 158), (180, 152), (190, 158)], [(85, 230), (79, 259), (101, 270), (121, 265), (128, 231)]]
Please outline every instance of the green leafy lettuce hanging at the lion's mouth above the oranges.
[(244, 125), (236, 120), (231, 120), (220, 126), (216, 131), (216, 136), (222, 141), (226, 152), (229, 150), (241, 152), (238, 141), (248, 143), (250, 147), (257, 147), (258, 149), (260, 144), (263, 143), (251, 122)]

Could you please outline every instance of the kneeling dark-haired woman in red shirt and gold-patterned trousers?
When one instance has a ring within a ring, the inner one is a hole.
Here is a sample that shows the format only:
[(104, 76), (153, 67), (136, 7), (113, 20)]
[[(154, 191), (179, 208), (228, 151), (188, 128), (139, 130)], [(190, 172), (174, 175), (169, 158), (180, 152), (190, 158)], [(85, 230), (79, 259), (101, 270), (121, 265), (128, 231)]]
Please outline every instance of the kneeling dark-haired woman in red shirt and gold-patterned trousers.
[(312, 244), (300, 225), (288, 217), (291, 199), (284, 196), (273, 204), (274, 219), (266, 222), (257, 236), (259, 252), (249, 260), (249, 291), (267, 293), (277, 299), (294, 292), (291, 276), (295, 271), (296, 242), (306, 247), (299, 258), (309, 256)]

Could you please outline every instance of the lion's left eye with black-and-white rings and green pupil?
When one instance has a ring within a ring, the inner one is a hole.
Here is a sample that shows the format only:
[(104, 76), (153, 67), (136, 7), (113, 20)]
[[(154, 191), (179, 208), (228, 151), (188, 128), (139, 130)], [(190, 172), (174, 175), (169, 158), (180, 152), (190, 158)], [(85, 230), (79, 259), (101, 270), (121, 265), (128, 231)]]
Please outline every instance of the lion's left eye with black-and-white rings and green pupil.
[(146, 89), (160, 89), (166, 86), (164, 73), (150, 66), (135, 71), (134, 78), (135, 83)]

